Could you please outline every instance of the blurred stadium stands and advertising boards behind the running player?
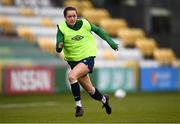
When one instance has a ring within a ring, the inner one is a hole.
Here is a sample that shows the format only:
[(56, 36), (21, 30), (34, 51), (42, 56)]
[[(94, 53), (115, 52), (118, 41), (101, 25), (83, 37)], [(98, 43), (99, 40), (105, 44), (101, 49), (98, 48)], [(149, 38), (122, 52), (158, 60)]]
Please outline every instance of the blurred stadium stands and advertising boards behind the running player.
[(62, 93), (69, 67), (55, 51), (65, 6), (103, 28), (113, 51), (94, 34), (91, 78), (103, 92), (180, 90), (179, 0), (0, 0), (0, 94)]

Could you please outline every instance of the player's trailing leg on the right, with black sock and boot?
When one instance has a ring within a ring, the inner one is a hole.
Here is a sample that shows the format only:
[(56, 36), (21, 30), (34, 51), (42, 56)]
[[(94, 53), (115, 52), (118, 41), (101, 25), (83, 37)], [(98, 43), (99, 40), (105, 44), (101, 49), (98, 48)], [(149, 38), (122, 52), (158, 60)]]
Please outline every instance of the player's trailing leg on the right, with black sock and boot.
[(107, 114), (111, 114), (111, 107), (109, 105), (109, 97), (107, 95), (102, 95), (98, 89), (96, 89), (89, 78), (89, 75), (80, 77), (78, 79), (81, 86), (89, 93), (89, 95), (98, 101), (101, 101), (103, 103), (103, 107), (106, 109)]

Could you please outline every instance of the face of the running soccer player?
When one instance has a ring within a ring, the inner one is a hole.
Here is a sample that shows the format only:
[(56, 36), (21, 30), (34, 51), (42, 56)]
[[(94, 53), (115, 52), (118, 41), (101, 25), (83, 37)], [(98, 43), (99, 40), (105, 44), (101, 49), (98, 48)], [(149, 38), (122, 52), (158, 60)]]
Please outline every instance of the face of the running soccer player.
[(77, 20), (76, 11), (75, 10), (67, 11), (65, 19), (66, 19), (66, 22), (68, 23), (68, 25), (74, 26), (76, 24), (76, 20)]

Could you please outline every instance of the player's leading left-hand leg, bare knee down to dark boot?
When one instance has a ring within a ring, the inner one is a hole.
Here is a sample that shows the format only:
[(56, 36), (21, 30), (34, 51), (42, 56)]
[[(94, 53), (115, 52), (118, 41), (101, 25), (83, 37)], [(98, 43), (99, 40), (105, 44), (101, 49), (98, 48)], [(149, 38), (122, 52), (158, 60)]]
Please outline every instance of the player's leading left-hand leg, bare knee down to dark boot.
[(82, 75), (87, 74), (88, 71), (89, 70), (86, 65), (84, 65), (83, 63), (79, 63), (68, 74), (68, 79), (71, 85), (71, 91), (76, 103), (76, 112), (75, 112), (76, 117), (82, 116), (84, 113), (81, 104), (80, 86), (77, 79)]

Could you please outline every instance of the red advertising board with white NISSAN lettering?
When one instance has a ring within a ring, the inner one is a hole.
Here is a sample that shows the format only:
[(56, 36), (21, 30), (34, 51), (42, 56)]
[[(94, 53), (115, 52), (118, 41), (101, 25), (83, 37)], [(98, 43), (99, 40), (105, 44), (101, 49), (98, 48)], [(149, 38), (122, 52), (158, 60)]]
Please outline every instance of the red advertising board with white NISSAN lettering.
[(11, 67), (5, 70), (6, 94), (53, 93), (54, 69), (51, 67)]

